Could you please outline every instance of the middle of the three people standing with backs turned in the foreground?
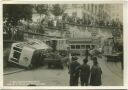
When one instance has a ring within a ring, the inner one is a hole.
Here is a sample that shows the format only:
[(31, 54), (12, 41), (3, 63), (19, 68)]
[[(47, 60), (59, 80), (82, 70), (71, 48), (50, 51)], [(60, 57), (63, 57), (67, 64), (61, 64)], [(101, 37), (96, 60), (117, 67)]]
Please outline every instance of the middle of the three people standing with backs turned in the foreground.
[(88, 59), (85, 58), (83, 60), (83, 65), (81, 66), (81, 72), (80, 72), (80, 80), (81, 80), (81, 86), (87, 86), (90, 76), (90, 66), (87, 64)]

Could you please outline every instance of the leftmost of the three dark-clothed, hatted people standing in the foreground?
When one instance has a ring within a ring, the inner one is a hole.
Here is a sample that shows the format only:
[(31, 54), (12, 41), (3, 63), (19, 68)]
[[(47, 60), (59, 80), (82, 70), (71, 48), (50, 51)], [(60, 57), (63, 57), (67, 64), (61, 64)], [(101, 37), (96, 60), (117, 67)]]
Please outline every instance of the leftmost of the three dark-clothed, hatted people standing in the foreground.
[(69, 65), (70, 86), (78, 86), (80, 63), (76, 56), (72, 57), (72, 62)]

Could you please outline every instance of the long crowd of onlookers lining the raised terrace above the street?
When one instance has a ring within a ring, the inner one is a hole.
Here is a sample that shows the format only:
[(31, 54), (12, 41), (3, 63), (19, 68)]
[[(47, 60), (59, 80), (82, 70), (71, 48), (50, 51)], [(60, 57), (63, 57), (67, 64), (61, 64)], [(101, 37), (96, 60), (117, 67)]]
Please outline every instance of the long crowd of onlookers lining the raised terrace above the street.
[[(22, 23), (21, 27), (23, 31), (29, 31), (33, 33), (40, 33), (44, 34), (45, 30), (47, 28), (49, 29), (55, 29), (55, 30), (64, 30), (68, 29), (69, 24), (75, 24), (75, 25), (81, 25), (81, 26), (92, 26), (92, 27), (115, 27), (115, 28), (120, 28), (122, 27), (121, 22), (118, 20), (94, 20), (90, 18), (79, 18), (77, 16), (64, 16), (62, 15), (61, 18), (51, 18), (47, 17), (39, 20), (40, 22), (37, 22), (36, 24), (34, 22), (28, 22), (28, 24), (24, 25)], [(11, 39), (16, 39), (17, 33), (19, 27), (18, 26), (11, 26), (11, 25), (6, 25), (4, 24), (4, 31), (6, 31), (7, 35)], [(19, 36), (19, 35), (18, 35)]]

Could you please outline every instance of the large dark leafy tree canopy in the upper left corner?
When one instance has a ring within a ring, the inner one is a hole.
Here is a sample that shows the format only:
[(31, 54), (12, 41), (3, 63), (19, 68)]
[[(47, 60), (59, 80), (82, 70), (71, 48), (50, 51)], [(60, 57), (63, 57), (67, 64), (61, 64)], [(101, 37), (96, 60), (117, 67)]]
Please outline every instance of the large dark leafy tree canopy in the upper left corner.
[(7, 24), (16, 26), (20, 20), (32, 19), (32, 5), (27, 4), (4, 4), (3, 5), (3, 17), (6, 19)]

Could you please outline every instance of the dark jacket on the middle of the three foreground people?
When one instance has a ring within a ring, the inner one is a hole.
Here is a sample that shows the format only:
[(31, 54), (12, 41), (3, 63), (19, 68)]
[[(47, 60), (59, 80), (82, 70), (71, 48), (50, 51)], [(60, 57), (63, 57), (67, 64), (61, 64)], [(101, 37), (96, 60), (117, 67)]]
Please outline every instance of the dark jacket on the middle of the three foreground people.
[(88, 82), (90, 76), (90, 66), (88, 64), (81, 65), (80, 77), (82, 81)]

